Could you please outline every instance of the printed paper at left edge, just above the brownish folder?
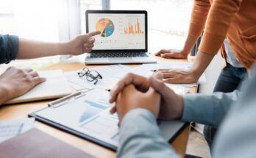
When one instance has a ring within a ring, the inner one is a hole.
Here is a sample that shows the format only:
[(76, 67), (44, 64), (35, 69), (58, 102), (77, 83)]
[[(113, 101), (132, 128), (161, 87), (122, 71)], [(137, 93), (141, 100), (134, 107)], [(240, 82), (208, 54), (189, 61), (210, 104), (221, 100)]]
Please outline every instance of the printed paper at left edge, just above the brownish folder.
[(0, 121), (0, 143), (34, 127), (35, 118), (18, 121)]

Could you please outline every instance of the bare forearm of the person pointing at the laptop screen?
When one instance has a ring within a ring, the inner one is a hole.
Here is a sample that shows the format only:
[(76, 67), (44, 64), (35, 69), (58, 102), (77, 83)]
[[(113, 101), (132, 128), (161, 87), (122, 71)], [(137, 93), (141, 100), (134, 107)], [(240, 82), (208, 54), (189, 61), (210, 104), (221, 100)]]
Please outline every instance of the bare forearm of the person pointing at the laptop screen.
[(20, 38), (18, 45), (17, 59), (68, 54), (66, 43), (47, 43)]

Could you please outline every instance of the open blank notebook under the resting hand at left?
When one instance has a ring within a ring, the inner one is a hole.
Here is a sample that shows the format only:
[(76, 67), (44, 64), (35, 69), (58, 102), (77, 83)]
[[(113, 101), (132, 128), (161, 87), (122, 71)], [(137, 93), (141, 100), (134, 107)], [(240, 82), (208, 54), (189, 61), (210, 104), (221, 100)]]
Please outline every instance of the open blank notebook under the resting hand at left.
[(59, 98), (71, 93), (71, 87), (68, 85), (67, 79), (63, 75), (63, 71), (38, 71), (39, 76), (45, 77), (46, 82), (40, 83), (36, 87), (29, 90), (23, 96), (13, 98), (7, 104), (36, 101), (47, 98)]

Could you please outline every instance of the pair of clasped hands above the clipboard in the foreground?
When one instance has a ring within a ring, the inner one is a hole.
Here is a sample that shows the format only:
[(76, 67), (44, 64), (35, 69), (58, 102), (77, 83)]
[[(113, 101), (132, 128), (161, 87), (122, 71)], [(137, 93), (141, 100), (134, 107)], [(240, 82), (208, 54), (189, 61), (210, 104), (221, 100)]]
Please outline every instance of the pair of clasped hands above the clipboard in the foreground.
[(160, 120), (182, 118), (183, 112), (182, 96), (165, 85), (160, 73), (149, 78), (127, 74), (111, 90), (110, 103), (115, 103), (110, 112), (118, 113), (120, 123), (129, 111), (137, 108), (149, 110)]

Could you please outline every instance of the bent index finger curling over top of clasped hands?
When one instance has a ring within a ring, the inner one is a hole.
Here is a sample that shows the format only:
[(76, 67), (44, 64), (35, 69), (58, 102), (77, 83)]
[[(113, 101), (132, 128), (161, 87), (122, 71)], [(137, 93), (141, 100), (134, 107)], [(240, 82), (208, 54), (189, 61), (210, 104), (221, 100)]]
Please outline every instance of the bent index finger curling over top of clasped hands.
[(149, 89), (149, 80), (143, 76), (138, 76), (133, 73), (128, 73), (123, 79), (121, 79), (117, 85), (110, 91), (110, 103), (116, 101), (118, 93), (120, 93), (127, 85), (135, 85), (140, 91), (146, 91)]

